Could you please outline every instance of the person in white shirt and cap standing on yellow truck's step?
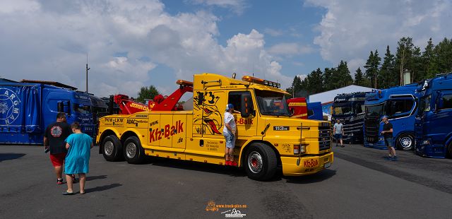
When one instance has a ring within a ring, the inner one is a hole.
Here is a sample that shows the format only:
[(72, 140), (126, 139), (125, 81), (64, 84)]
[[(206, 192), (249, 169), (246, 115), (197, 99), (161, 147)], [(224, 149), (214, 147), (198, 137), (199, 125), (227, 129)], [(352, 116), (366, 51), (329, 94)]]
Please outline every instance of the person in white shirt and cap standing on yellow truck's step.
[(237, 162), (234, 161), (234, 146), (235, 146), (235, 132), (236, 124), (234, 115), (234, 105), (227, 104), (225, 112), (225, 128), (223, 128), (223, 136), (226, 140), (225, 148), (225, 165), (237, 166)]

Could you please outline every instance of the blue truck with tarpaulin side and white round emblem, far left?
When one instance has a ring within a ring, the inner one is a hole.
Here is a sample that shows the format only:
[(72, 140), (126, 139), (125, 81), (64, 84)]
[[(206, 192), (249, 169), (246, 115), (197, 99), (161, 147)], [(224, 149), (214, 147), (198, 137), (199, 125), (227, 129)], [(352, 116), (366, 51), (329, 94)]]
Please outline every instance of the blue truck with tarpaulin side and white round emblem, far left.
[(87, 93), (50, 81), (0, 81), (0, 143), (42, 144), (46, 127), (66, 112), (94, 137), (92, 103)]

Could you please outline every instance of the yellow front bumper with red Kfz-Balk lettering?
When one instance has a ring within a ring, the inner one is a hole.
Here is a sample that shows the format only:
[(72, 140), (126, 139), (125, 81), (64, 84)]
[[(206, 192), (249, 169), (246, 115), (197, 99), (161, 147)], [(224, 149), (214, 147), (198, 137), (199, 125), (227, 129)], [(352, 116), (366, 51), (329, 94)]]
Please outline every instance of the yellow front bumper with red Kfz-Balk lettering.
[(285, 176), (302, 176), (324, 170), (333, 164), (333, 152), (319, 156), (302, 157), (299, 165), (297, 165), (297, 160), (298, 157), (281, 157)]

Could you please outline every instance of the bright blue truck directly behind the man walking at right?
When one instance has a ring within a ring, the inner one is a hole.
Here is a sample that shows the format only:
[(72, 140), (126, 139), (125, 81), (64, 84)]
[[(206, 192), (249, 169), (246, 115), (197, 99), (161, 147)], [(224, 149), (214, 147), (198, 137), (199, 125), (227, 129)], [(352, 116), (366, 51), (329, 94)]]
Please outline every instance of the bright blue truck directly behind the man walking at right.
[(393, 124), (393, 146), (412, 150), (415, 146), (415, 116), (417, 114), (417, 83), (372, 90), (364, 102), (364, 146), (386, 149), (381, 118), (388, 116)]

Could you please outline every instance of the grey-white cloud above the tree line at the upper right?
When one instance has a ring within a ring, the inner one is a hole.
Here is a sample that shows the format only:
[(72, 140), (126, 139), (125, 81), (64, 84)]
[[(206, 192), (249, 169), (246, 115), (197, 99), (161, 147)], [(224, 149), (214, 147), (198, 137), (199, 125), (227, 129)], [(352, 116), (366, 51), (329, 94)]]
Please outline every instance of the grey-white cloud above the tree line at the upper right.
[(389, 45), (395, 53), (400, 37), (413, 37), (423, 49), (429, 37), (439, 42), (452, 35), (451, 1), (308, 0), (305, 6), (327, 10), (314, 40), (323, 59), (332, 63), (349, 60), (353, 72), (370, 51), (378, 49), (383, 55)]

